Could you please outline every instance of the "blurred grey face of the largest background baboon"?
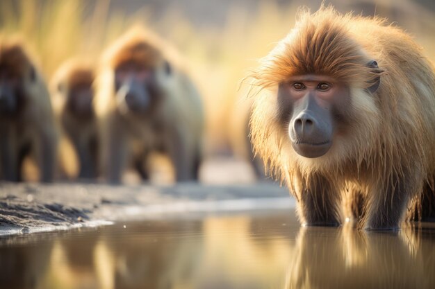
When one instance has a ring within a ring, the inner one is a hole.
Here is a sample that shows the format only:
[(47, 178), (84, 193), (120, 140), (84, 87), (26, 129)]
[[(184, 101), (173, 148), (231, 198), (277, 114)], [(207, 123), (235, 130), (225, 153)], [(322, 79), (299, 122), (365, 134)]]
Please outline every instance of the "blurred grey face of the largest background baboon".
[(143, 114), (161, 101), (158, 69), (134, 61), (124, 62), (115, 69), (117, 103), (124, 112)]

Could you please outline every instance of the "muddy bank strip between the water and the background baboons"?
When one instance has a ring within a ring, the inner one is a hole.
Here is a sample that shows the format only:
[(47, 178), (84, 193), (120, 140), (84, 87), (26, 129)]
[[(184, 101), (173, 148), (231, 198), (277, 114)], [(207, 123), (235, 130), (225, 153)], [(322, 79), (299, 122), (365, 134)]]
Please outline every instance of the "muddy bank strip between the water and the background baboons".
[(243, 185), (109, 186), (0, 184), (0, 236), (140, 220), (170, 214), (290, 207), (272, 182)]

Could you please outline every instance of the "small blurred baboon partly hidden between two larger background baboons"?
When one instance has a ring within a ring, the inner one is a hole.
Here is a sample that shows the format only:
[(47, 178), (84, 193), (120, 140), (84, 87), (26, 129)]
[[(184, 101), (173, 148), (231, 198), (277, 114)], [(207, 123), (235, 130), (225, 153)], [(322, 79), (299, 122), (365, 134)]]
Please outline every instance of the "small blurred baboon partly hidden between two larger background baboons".
[(54, 108), (79, 159), (79, 178), (97, 177), (97, 117), (92, 100), (93, 65), (80, 59), (65, 62), (51, 82)]

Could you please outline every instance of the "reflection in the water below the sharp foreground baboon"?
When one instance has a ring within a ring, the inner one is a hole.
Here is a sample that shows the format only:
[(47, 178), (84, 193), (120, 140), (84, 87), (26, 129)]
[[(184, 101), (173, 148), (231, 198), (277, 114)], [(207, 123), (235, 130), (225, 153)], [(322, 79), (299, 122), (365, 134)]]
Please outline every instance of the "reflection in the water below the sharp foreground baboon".
[(434, 236), (424, 234), (301, 227), (284, 288), (434, 288)]

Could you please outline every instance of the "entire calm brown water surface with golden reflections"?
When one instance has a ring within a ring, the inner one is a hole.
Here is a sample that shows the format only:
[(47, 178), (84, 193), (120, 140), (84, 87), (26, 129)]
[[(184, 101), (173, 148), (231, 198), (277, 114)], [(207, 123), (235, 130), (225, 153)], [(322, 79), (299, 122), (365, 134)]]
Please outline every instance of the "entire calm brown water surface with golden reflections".
[[(299, 227), (294, 212), (0, 239), (0, 288), (435, 288), (435, 226)], [(124, 227), (125, 225), (125, 227)]]

